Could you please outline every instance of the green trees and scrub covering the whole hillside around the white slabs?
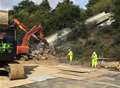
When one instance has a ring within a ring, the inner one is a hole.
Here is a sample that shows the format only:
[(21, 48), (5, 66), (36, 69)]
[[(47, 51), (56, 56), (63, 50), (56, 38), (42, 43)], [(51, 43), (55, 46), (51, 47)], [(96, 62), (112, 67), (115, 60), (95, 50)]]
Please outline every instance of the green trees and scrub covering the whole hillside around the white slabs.
[[(87, 18), (103, 11), (114, 14), (115, 22), (112, 25), (93, 28), (84, 24)], [(61, 45), (63, 47), (60, 48), (61, 52), (66, 52), (67, 46), (73, 49), (78, 58), (89, 58), (93, 51), (96, 51), (100, 57), (120, 58), (119, 0), (89, 0), (87, 9), (74, 5), (70, 0), (63, 0), (55, 9), (50, 7), (48, 0), (43, 0), (39, 5), (23, 0), (10, 11), (9, 20), (12, 21), (14, 17), (29, 28), (42, 24), (46, 36), (63, 28), (75, 29), (76, 31)], [(20, 32), (17, 36), (23, 34)], [(94, 38), (89, 39), (91, 34)]]

